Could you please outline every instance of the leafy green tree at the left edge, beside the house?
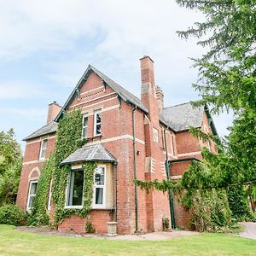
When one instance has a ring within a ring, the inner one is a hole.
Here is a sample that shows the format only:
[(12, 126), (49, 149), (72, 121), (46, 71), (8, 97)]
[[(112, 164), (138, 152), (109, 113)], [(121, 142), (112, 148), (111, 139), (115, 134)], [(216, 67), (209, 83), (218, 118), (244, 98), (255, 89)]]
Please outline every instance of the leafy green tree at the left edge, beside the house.
[(15, 132), (0, 132), (0, 206), (15, 203), (21, 170), (20, 145), (15, 140)]

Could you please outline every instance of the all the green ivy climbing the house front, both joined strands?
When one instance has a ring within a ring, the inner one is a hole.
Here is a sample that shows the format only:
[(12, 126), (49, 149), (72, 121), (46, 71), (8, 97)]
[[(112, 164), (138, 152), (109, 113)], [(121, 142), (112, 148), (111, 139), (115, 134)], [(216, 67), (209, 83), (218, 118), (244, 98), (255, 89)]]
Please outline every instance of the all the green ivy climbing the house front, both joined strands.
[(52, 201), (54, 204), (54, 224), (59, 224), (64, 218), (73, 214), (80, 217), (90, 215), (90, 207), (93, 196), (93, 173), (96, 168), (94, 162), (86, 162), (84, 170), (84, 201), (82, 209), (65, 208), (66, 188), (71, 171), (70, 165), (61, 166), (61, 161), (67, 158), (75, 150), (81, 148), (85, 141), (81, 139), (82, 113), (73, 110), (67, 113), (58, 124), (55, 142), (55, 154), (49, 157), (44, 164), (41, 176), (38, 180), (38, 190), (35, 204), (28, 217), (28, 224), (49, 224), (49, 212), (47, 203), (49, 199), (49, 183), (52, 178)]

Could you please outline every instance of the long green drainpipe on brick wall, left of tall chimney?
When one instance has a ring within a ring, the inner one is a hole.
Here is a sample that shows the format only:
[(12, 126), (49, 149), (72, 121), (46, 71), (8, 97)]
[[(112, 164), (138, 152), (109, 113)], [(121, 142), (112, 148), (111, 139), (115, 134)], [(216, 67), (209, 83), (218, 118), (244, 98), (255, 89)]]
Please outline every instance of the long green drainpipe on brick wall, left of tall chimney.
[[(132, 135), (133, 135), (133, 162), (134, 162), (134, 180), (137, 181), (137, 151), (135, 141), (135, 110), (132, 109)], [(134, 184), (134, 199), (135, 199), (135, 216), (136, 216), (136, 232), (138, 232), (138, 207), (137, 207), (137, 183)]]

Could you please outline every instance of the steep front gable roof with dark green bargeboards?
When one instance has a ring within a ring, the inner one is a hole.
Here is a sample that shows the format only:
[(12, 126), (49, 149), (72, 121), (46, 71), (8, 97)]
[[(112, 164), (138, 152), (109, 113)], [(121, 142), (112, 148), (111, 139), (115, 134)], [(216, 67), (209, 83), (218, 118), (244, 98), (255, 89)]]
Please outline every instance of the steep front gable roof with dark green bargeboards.
[(55, 118), (55, 121), (58, 121), (61, 118), (61, 114), (66, 111), (68, 108), (69, 103), (72, 101), (73, 97), (76, 95), (76, 92), (79, 90), (79, 87), (84, 84), (84, 82), (88, 79), (91, 72), (96, 73), (100, 79), (102, 79), (102, 82), (108, 84), (108, 86), (116, 92), (116, 94), (123, 99), (125, 102), (131, 103), (132, 105), (136, 106), (137, 108), (141, 109), (144, 113), (148, 113), (148, 109), (143, 106), (143, 103), (137, 96), (134, 96), (130, 91), (126, 90), (119, 84), (115, 83), (112, 79), (109, 79), (105, 74), (100, 72), (96, 69), (96, 67), (93, 67), (89, 65), (87, 69), (85, 70), (83, 76), (81, 79), (79, 79), (79, 83), (76, 85), (76, 87), (73, 89), (71, 95), (67, 98), (67, 102), (65, 102), (64, 106), (61, 108), (60, 113)]

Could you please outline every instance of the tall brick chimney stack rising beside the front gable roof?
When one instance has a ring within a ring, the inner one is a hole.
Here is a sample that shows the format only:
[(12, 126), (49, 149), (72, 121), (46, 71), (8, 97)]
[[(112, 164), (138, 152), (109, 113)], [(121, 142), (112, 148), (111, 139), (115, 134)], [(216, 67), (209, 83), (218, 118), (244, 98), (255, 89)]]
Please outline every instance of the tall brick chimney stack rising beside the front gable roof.
[(154, 61), (149, 56), (143, 56), (141, 61), (142, 75), (142, 102), (148, 108), (148, 119), (154, 127), (159, 125), (158, 102), (156, 98), (156, 87), (154, 85)]

